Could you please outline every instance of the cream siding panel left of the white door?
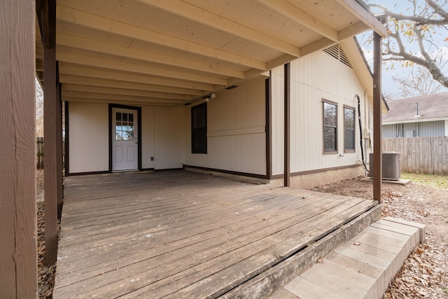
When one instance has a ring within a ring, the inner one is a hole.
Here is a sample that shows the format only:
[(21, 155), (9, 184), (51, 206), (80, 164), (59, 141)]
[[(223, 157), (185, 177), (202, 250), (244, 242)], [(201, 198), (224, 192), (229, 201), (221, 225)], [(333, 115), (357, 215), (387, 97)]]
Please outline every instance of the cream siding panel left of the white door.
[(109, 170), (107, 104), (69, 103), (69, 171)]

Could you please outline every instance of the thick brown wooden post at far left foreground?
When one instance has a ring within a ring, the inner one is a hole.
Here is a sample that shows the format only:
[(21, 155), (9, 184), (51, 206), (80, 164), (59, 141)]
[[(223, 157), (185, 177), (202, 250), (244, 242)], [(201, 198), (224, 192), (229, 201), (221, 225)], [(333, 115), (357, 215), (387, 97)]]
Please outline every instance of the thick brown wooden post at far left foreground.
[(37, 298), (34, 8), (34, 1), (1, 1), (1, 298)]

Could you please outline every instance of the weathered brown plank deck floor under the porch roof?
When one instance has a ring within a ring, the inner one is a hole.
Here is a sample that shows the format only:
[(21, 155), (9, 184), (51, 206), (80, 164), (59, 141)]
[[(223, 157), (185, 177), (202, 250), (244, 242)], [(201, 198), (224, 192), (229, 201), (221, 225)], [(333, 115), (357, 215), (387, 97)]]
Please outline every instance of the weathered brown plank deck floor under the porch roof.
[(216, 298), (374, 206), (190, 172), (70, 176), (54, 298)]

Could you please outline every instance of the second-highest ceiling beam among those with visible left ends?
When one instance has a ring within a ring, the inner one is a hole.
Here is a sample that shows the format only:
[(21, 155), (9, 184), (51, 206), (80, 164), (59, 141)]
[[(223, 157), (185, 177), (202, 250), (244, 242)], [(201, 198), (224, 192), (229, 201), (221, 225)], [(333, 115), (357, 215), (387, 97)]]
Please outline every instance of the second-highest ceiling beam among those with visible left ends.
[(233, 69), (226, 69), (218, 67), (213, 64), (204, 64), (201, 62), (194, 62), (192, 60), (183, 60), (176, 57), (170, 57), (158, 53), (148, 52), (144, 50), (137, 50), (123, 46), (113, 45), (111, 43), (103, 43), (94, 41), (92, 39), (84, 39), (79, 36), (72, 36), (58, 32), (56, 36), (57, 44), (61, 46), (68, 46), (83, 50), (89, 50), (99, 53), (107, 53), (122, 57), (128, 57), (144, 62), (155, 62), (159, 64), (167, 64), (174, 67), (183, 67), (195, 71), (204, 71), (211, 74), (220, 74), (223, 76), (230, 76), (235, 78), (244, 78), (244, 72), (235, 71)]

